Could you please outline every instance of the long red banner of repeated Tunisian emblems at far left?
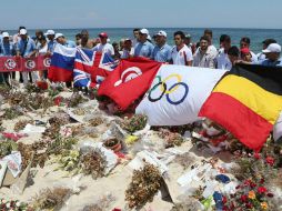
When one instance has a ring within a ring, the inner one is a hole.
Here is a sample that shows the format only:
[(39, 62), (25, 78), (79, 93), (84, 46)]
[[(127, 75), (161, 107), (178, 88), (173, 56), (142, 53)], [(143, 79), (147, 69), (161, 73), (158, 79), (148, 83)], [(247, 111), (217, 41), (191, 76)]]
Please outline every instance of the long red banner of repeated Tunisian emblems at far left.
[(34, 58), (0, 57), (0, 72), (47, 70), (50, 63), (51, 58), (46, 56)]

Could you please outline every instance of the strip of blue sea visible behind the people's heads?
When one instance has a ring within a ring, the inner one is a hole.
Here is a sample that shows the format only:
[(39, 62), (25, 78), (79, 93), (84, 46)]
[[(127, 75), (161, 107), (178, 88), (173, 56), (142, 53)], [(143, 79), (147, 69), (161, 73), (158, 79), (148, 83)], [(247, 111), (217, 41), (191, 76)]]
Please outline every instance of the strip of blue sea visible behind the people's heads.
[[(234, 28), (210, 28), (213, 31), (213, 44), (219, 48), (219, 39), (221, 34), (229, 34), (232, 40), (232, 46), (238, 46), (242, 37), (249, 37), (251, 39), (251, 50), (259, 53), (262, 50), (262, 41), (272, 38), (282, 44), (282, 29), (234, 29)], [(41, 29), (43, 32), (47, 29)], [(75, 40), (75, 34), (82, 29), (53, 29), (56, 32), (63, 33), (68, 39)], [(132, 38), (132, 28), (95, 28), (87, 29), (91, 38), (97, 38), (100, 32), (107, 32), (110, 42), (119, 42), (122, 38)], [(198, 42), (203, 34), (204, 28), (148, 28), (150, 36), (152, 37), (160, 30), (164, 30), (168, 33), (168, 43), (173, 46), (173, 33), (178, 30), (189, 33), (192, 37), (192, 42)], [(14, 34), (17, 31), (8, 31), (10, 34)], [(34, 36), (36, 30), (29, 30), (30, 37)]]

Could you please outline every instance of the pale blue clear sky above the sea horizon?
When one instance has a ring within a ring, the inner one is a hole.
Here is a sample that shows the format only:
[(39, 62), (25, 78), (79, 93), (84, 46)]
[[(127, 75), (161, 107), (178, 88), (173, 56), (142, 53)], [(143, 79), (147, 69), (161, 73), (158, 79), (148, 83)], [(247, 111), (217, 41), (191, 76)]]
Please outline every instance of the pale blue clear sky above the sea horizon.
[(274, 28), (282, 0), (12, 0), (1, 2), (0, 29)]

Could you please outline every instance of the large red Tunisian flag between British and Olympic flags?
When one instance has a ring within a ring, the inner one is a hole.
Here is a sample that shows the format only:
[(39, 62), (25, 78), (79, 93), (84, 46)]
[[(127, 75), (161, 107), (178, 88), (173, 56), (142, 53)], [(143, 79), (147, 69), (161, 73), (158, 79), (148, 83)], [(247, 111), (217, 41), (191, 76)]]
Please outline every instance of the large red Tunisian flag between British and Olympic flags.
[(108, 96), (121, 110), (125, 110), (148, 91), (161, 64), (144, 58), (121, 60), (100, 86), (98, 94)]

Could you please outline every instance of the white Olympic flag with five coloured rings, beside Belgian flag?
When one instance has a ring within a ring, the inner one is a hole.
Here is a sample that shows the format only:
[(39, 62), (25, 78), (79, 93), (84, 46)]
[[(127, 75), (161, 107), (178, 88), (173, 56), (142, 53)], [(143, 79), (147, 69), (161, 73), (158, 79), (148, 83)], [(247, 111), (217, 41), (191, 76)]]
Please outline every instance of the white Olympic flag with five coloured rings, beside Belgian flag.
[(197, 121), (198, 113), (225, 70), (162, 64), (137, 108), (150, 125), (181, 125)]

